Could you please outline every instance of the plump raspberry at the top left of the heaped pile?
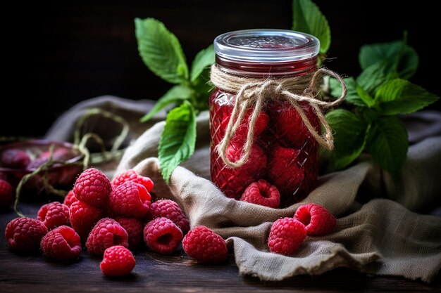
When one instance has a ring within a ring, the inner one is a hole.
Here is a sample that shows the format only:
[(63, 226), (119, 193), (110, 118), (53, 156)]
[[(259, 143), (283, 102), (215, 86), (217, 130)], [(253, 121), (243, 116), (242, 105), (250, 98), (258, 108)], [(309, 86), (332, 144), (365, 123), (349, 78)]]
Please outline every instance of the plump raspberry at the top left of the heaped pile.
[(111, 191), (111, 183), (106, 175), (94, 168), (83, 171), (73, 185), (77, 199), (94, 207), (106, 204)]

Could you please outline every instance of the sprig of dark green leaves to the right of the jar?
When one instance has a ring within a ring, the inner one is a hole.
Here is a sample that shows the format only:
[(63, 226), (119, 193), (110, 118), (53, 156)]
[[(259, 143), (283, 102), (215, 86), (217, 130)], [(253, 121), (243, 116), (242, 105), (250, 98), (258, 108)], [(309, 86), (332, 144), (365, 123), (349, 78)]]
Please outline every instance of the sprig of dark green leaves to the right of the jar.
[[(416, 72), (418, 55), (405, 40), (365, 45), (359, 61), (363, 69), (359, 77), (344, 79), (352, 111), (339, 109), (326, 115), (335, 131), (328, 171), (347, 167), (365, 151), (382, 169), (396, 175), (409, 145), (397, 115), (421, 110), (438, 97), (406, 80)], [(330, 79), (330, 95), (339, 96), (341, 91), (337, 80)]]

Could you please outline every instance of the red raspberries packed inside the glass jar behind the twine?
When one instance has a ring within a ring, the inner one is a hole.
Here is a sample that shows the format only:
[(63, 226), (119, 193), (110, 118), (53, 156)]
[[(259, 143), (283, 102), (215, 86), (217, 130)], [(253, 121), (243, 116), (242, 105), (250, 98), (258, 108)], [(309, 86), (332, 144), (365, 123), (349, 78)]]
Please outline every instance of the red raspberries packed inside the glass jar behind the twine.
[[(320, 133), (321, 126), (311, 105), (299, 103), (299, 108)], [(249, 158), (237, 168), (228, 167), (216, 150), (225, 136), (230, 114), (227, 105), (215, 105), (211, 112), (211, 180), (227, 197), (266, 207), (287, 207), (304, 199), (316, 187), (318, 143), (290, 103), (275, 103), (261, 110), (253, 129)], [(242, 157), (251, 114), (252, 109), (247, 110), (228, 145), (226, 155), (231, 162)]]

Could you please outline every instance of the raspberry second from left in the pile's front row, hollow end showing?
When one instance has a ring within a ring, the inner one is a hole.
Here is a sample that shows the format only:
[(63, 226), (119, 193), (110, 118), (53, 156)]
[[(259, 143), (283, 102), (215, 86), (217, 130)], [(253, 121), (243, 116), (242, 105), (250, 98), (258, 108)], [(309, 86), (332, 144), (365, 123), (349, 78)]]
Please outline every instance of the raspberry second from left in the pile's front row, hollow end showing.
[(42, 239), (43, 254), (51, 259), (67, 261), (81, 254), (80, 236), (68, 226), (59, 226), (49, 231)]

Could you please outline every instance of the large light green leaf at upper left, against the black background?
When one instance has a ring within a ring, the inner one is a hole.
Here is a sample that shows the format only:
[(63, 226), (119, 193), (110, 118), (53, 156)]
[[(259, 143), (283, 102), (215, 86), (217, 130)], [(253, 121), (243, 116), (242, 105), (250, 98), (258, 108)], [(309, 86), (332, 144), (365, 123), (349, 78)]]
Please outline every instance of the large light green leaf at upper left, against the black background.
[(135, 18), (139, 55), (151, 72), (166, 82), (180, 84), (188, 79), (188, 67), (178, 38), (154, 18)]

